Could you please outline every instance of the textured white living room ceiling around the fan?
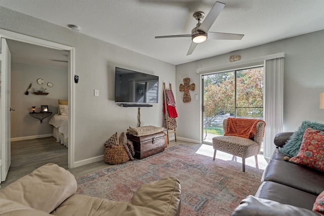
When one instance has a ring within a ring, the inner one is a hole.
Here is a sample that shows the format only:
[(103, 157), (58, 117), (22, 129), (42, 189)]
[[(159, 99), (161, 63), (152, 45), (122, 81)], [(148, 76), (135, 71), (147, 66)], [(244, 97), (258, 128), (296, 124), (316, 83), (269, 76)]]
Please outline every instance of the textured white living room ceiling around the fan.
[(67, 27), (174, 65), (324, 29), (323, 0), (223, 0), (210, 31), (245, 34), (242, 40), (207, 40), (186, 56), (192, 14), (207, 15), (215, 0), (0, 0), (0, 6)]

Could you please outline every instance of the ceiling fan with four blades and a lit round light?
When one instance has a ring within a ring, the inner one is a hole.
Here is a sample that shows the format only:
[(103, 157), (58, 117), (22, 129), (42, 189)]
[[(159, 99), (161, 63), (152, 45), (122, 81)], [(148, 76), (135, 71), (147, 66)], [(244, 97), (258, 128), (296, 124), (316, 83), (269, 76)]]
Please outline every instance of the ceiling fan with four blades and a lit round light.
[(208, 32), (213, 23), (217, 19), (225, 7), (224, 3), (216, 2), (208, 13), (204, 22), (201, 19), (205, 17), (204, 12), (195, 12), (193, 18), (197, 20), (197, 25), (191, 30), (191, 34), (179, 34), (179, 35), (167, 35), (167, 36), (155, 36), (155, 38), (168, 38), (168, 37), (191, 37), (191, 45), (188, 50), (187, 56), (191, 55), (196, 46), (204, 42), (206, 39), (221, 39), (221, 40), (240, 40), (244, 34), (232, 34), (232, 33), (220, 33), (220, 32)]

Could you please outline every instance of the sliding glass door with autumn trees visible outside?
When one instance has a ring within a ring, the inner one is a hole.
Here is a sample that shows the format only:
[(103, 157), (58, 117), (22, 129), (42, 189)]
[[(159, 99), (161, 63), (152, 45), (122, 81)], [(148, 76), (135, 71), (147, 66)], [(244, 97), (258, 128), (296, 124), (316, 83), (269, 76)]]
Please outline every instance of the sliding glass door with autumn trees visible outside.
[(203, 82), (203, 142), (223, 135), (228, 117), (263, 119), (263, 66), (206, 74)]

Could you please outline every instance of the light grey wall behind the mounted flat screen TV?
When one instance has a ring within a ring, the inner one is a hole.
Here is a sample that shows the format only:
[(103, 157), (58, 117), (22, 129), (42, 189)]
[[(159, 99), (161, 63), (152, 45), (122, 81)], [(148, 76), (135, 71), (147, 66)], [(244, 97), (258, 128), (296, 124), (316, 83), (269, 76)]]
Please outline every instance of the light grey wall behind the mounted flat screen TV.
[[(103, 155), (104, 142), (115, 132), (137, 125), (137, 107), (114, 103), (115, 67), (159, 76), (159, 103), (141, 108), (141, 125), (161, 126), (163, 81), (175, 84), (175, 66), (108, 42), (0, 7), (0, 28), (75, 48), (75, 162)], [(29, 80), (24, 85), (28, 86)], [(99, 97), (94, 97), (94, 90)]]

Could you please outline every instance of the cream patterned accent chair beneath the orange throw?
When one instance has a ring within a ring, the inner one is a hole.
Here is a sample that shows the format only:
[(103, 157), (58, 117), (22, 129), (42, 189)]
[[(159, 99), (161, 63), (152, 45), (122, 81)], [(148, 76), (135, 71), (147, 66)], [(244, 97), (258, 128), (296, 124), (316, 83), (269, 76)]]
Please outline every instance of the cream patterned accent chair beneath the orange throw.
[[(227, 119), (223, 121), (224, 133), (226, 132)], [(217, 150), (232, 154), (233, 158), (242, 158), (242, 170), (245, 172), (245, 159), (251, 156), (255, 157), (255, 163), (258, 167), (258, 154), (260, 153), (262, 137), (265, 123), (260, 121), (256, 125), (256, 135), (252, 139), (236, 136), (219, 136), (213, 138), (214, 158)]]

